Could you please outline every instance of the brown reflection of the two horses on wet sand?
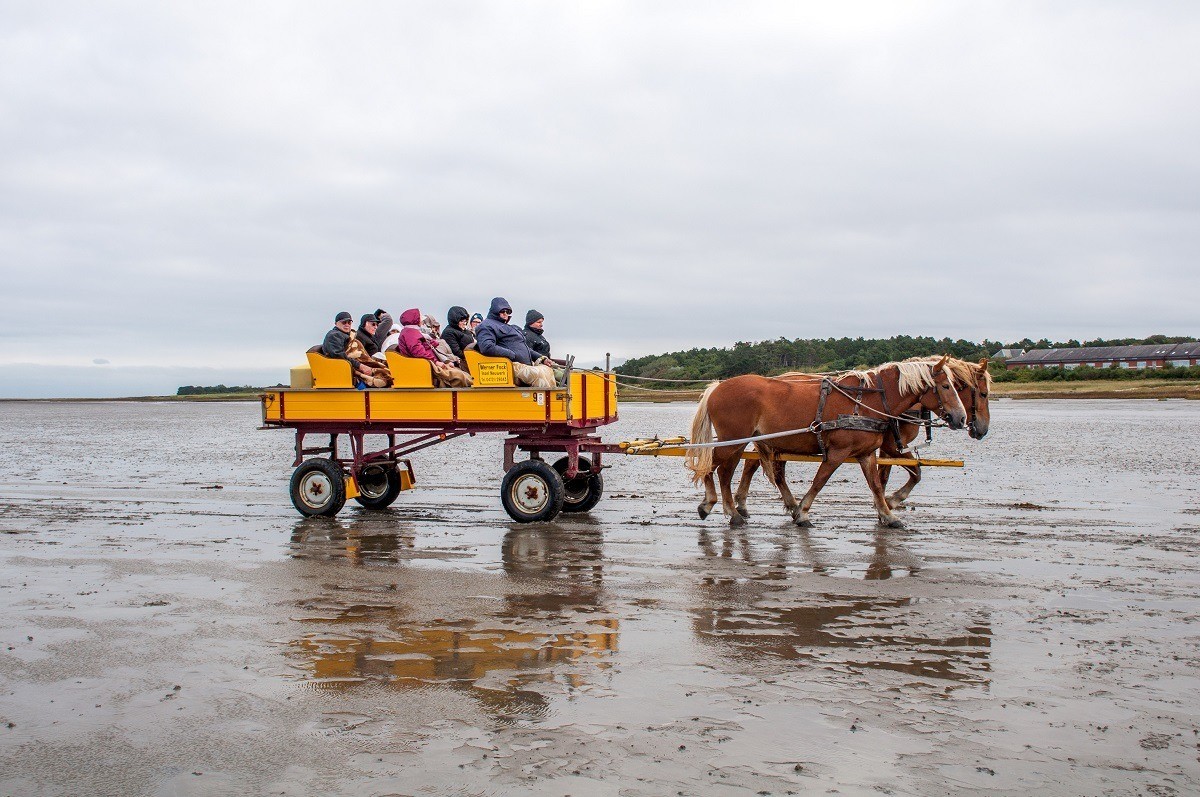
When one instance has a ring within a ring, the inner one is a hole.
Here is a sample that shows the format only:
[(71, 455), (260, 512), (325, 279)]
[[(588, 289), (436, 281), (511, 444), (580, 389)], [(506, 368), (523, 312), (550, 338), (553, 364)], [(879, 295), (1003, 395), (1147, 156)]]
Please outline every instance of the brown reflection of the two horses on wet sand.
[[(808, 533), (799, 540), (780, 535), (774, 555), (761, 557), (740, 533), (726, 533), (720, 547), (701, 534), (700, 545), (706, 556), (731, 559), (698, 581), (692, 612), (696, 636), (722, 657), (756, 666), (788, 661), (830, 671), (892, 671), (929, 684), (990, 681), (992, 631), (985, 611), (962, 616), (952, 606), (910, 597), (810, 592), (797, 586), (808, 571), (860, 573), (869, 581), (892, 579), (899, 570), (916, 573), (919, 565), (893, 549), (887, 529), (875, 534), (865, 569), (830, 562)], [(829, 581), (829, 587), (836, 583), (845, 581)]]

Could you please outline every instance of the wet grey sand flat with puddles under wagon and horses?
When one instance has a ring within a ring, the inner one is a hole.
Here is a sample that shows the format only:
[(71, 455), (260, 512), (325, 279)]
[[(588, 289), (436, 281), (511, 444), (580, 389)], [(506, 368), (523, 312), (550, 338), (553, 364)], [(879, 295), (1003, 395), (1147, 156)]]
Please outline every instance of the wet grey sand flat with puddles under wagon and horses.
[(1196, 402), (998, 401), (906, 529), (844, 467), (736, 532), (678, 459), (520, 526), (480, 436), (304, 520), (257, 405), (0, 415), (0, 795), (1200, 792)]

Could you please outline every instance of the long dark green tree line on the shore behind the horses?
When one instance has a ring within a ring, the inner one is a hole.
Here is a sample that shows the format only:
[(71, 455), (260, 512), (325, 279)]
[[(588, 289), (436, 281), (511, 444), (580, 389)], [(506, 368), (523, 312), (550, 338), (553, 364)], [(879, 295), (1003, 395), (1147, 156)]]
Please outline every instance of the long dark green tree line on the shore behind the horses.
[[(1152, 335), (1145, 338), (1120, 338), (1120, 340), (1096, 340), (1080, 343), (1070, 340), (1064, 343), (1052, 343), (1048, 340), (1031, 341), (1025, 338), (1015, 342), (1002, 342), (984, 340), (980, 342), (966, 340), (950, 340), (949, 337), (935, 338), (925, 336), (895, 335), (888, 338), (864, 338), (864, 337), (827, 337), (827, 338), (803, 338), (787, 340), (780, 337), (775, 341), (762, 341), (748, 343), (739, 341), (732, 348), (694, 348), (686, 352), (668, 352), (666, 354), (650, 354), (625, 360), (614, 370), (623, 376), (635, 376), (649, 379), (662, 379), (660, 386), (670, 386), (670, 379), (728, 379), (743, 373), (762, 373), (775, 376), (785, 371), (845, 371), (847, 368), (874, 367), (882, 362), (904, 360), (910, 356), (924, 356), (928, 354), (950, 354), (964, 360), (978, 360), (990, 356), (1002, 348), (1078, 348), (1080, 346), (1138, 346), (1157, 343), (1183, 343), (1195, 338), (1192, 337), (1168, 337), (1165, 335)], [(995, 364), (992, 374), (996, 378), (1009, 380), (1019, 379), (1045, 379), (1052, 377), (1025, 377), (1026, 371), (1008, 372), (1003, 364)], [(1175, 368), (1175, 371), (1193, 371), (1195, 368)], [(1063, 378), (1140, 378), (1133, 376), (1139, 373), (1132, 368), (1038, 368), (1028, 373), (1052, 373), (1066, 371), (1066, 373), (1080, 373), (1078, 377)], [(1084, 376), (1081, 372), (1098, 371), (1097, 376)], [(1115, 377), (1117, 372), (1120, 377)], [(1157, 368), (1153, 373), (1164, 374), (1166, 368)], [(1012, 377), (1009, 374), (1018, 374)], [(1172, 373), (1174, 376), (1174, 373)], [(1184, 374), (1180, 374), (1184, 376)]]

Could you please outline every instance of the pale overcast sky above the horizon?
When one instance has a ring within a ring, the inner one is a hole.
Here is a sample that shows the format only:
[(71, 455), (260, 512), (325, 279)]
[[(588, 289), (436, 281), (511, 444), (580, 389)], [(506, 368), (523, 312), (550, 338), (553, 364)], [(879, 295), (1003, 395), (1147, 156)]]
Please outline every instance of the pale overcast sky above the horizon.
[(1200, 332), (1200, 4), (0, 19), (0, 396), (286, 382), (340, 310), (494, 295), (582, 361)]

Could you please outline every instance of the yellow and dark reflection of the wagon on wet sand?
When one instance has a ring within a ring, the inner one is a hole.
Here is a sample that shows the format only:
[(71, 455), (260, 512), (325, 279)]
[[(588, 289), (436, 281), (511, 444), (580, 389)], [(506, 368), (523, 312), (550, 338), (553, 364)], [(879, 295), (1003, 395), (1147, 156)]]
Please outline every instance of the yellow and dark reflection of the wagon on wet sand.
[[(354, 533), (314, 538), (310, 532), (306, 538), (326, 557), (331, 540), (341, 540), (352, 561), (360, 556), (352, 550), (364, 541)], [(299, 556), (305, 543), (298, 545)], [(396, 545), (410, 546), (403, 538)], [(373, 546), (374, 553), (388, 547), (379, 540)], [(304, 601), (307, 616), (300, 622), (319, 627), (289, 646), (305, 679), (330, 690), (380, 683), (394, 689), (443, 687), (468, 694), (502, 721), (542, 717), (546, 693), (588, 687), (617, 651), (618, 619), (596, 617), (600, 535), (518, 527), (505, 535), (502, 561), (518, 589), (505, 591), (502, 609), (476, 616), (416, 619), (406, 604), (418, 597), (401, 585), (384, 593), (395, 601), (378, 600), (378, 589), (372, 603), (348, 604), (342, 594)], [(529, 580), (536, 588), (520, 589)]]

